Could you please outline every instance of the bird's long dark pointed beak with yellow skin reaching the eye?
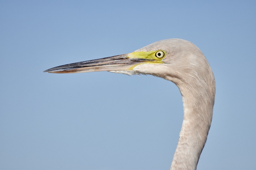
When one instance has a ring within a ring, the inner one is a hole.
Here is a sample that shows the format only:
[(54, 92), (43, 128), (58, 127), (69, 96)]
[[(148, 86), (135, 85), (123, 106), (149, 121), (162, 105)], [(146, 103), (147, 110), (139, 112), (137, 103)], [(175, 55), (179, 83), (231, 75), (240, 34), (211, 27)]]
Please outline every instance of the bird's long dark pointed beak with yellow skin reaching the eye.
[[(135, 66), (142, 63), (163, 63), (162, 58), (156, 57), (157, 51), (133, 52), (128, 54), (116, 55), (107, 58), (89, 60), (78, 63), (71, 63), (53, 67), (45, 70), (48, 73), (81, 73), (93, 71), (116, 71), (132, 70)], [(164, 51), (164, 54), (165, 51)], [(165, 56), (165, 55), (164, 55)]]

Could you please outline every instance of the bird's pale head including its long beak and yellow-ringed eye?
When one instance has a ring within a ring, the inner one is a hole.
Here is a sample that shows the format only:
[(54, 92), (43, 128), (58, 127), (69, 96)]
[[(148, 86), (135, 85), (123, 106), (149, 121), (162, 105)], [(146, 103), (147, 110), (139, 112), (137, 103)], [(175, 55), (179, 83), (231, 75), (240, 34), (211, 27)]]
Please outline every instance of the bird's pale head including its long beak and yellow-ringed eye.
[(109, 71), (127, 75), (150, 74), (178, 85), (188, 78), (198, 76), (200, 72), (205, 73), (205, 70), (211, 68), (203, 53), (193, 43), (182, 39), (167, 39), (132, 53), (61, 65), (44, 72)]

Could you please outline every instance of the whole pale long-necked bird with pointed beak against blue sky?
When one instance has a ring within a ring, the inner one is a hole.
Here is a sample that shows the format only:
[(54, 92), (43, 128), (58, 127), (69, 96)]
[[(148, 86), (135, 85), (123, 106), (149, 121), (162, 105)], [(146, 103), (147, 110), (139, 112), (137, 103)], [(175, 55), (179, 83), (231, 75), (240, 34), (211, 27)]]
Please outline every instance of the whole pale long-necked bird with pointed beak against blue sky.
[(215, 78), (201, 50), (182, 39), (156, 41), (132, 53), (71, 63), (44, 72), (109, 71), (153, 75), (178, 86), (183, 101), (183, 122), (171, 170), (196, 170), (212, 122)]

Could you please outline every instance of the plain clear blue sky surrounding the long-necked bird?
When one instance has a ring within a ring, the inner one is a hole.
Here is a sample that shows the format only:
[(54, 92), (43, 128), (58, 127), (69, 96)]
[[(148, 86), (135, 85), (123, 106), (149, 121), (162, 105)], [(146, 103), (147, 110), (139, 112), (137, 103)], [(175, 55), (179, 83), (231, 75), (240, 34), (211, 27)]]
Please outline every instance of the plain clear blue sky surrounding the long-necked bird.
[(255, 169), (256, 1), (0, 1), (0, 169), (169, 169), (183, 106), (153, 76), (49, 74), (152, 42), (196, 44), (216, 80), (198, 170)]

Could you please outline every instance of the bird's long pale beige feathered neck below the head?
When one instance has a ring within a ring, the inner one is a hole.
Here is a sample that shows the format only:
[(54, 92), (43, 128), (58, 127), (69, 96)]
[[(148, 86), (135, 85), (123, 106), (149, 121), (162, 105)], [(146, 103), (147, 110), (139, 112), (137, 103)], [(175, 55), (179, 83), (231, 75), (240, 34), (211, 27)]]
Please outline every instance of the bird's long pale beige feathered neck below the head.
[(184, 120), (171, 170), (196, 170), (212, 122), (215, 85), (213, 88), (212, 95), (213, 89), (202, 86), (179, 87), (183, 100)]

